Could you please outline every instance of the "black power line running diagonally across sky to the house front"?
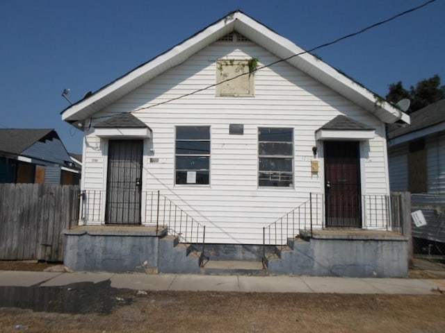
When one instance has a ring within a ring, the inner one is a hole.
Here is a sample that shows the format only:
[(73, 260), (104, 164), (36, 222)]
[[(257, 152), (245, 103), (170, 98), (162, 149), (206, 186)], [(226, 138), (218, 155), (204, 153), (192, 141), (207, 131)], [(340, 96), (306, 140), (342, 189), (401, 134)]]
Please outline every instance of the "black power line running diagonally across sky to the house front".
[[(338, 42), (341, 42), (342, 40), (346, 40), (346, 39), (348, 39), (348, 38), (350, 38), (350, 37), (355, 37), (355, 36), (360, 35), (360, 34), (366, 32), (366, 31), (371, 30), (372, 28), (375, 28), (375, 27), (377, 27), (377, 26), (381, 26), (382, 24), (386, 24), (386, 23), (388, 23), (388, 22), (391, 22), (391, 21), (393, 21), (394, 19), (397, 19), (398, 17), (402, 17), (402, 16), (404, 16), (404, 15), (409, 14), (410, 12), (414, 12), (414, 11), (416, 11), (416, 10), (419, 10), (419, 9), (423, 8), (423, 7), (426, 7), (426, 6), (430, 5), (431, 3), (435, 2), (435, 1), (437, 1), (437, 0), (429, 0), (429, 1), (426, 1), (425, 3), (422, 3), (422, 4), (419, 5), (419, 6), (410, 8), (410, 9), (405, 10), (405, 11), (403, 11), (403, 12), (400, 12), (400, 13), (398, 13), (398, 14), (392, 16), (392, 17), (389, 17), (389, 19), (384, 19), (383, 21), (377, 22), (377, 23), (375, 23), (375, 24), (371, 24), (371, 26), (366, 26), (366, 28), (362, 28), (361, 30), (356, 31), (355, 33), (350, 33), (349, 35), (344, 35), (343, 37), (339, 37), (339, 38), (337, 38), (336, 40), (332, 40), (331, 42), (327, 42), (327, 43), (325, 43), (325, 44), (318, 45), (318, 46), (316, 46), (316, 47), (314, 47), (314, 48), (312, 48), (312, 49), (309, 49), (309, 50), (307, 50), (307, 51), (302, 51), (302, 52), (300, 52), (300, 53), (296, 53), (296, 54), (294, 54), (293, 56), (289, 56), (288, 58), (284, 58), (284, 59), (280, 59), (280, 60), (277, 60), (277, 61), (274, 61), (274, 62), (270, 62), (270, 64), (268, 64), (268, 65), (264, 65), (264, 66), (261, 66), (261, 67), (257, 67), (256, 69), (254, 69), (253, 71), (249, 71), (248, 73), (239, 74), (239, 75), (237, 75), (237, 76), (234, 76), (233, 78), (228, 78), (227, 80), (223, 80), (223, 81), (221, 81), (221, 82), (219, 82), (219, 83), (213, 83), (212, 85), (208, 85), (208, 86), (203, 87), (203, 88), (201, 88), (201, 89), (196, 89), (196, 90), (194, 90), (193, 92), (189, 92), (189, 93), (187, 93), (187, 94), (183, 94), (183, 95), (174, 97), (174, 98), (172, 98), (172, 99), (168, 99), (167, 101), (162, 101), (162, 102), (159, 102), (159, 103), (156, 103), (156, 104), (147, 105), (147, 106), (143, 106), (143, 107), (137, 108), (137, 109), (135, 109), (135, 110), (130, 111), (130, 113), (132, 113), (132, 112), (137, 112), (137, 111), (140, 111), (140, 110), (147, 110), (147, 109), (149, 109), (149, 108), (154, 108), (154, 107), (159, 106), (159, 105), (163, 105), (163, 104), (171, 103), (171, 102), (173, 102), (173, 101), (177, 101), (177, 100), (179, 100), (179, 99), (184, 99), (185, 97), (192, 96), (192, 95), (197, 94), (197, 93), (199, 93), (199, 92), (204, 92), (204, 91), (207, 90), (207, 89), (216, 87), (217, 85), (221, 85), (221, 84), (226, 83), (226, 82), (231, 81), (231, 80), (235, 80), (236, 78), (239, 78), (239, 77), (241, 77), (241, 76), (251, 75), (251, 74), (253, 74), (255, 71), (259, 71), (259, 70), (261, 70), (261, 69), (265, 69), (265, 68), (271, 67), (271, 66), (273, 66), (273, 65), (277, 65), (277, 64), (280, 63), (280, 62), (285, 62), (285, 61), (287, 61), (287, 60), (291, 60), (292, 58), (301, 56), (302, 54), (305, 54), (305, 53), (311, 53), (311, 52), (316, 51), (316, 50), (318, 50), (318, 49), (322, 49), (323, 47), (330, 46), (330, 45), (333, 45), (333, 44), (337, 44)], [(116, 113), (116, 114), (124, 114), (124, 113), (127, 113), (127, 112), (119, 112), (119, 113)], [(113, 115), (116, 115), (116, 114), (113, 114)], [(108, 114), (108, 115), (106, 115), (106, 116), (96, 117), (96, 118), (93, 118), (93, 119), (102, 119), (102, 118), (107, 118), (107, 117), (110, 117), (110, 115)]]

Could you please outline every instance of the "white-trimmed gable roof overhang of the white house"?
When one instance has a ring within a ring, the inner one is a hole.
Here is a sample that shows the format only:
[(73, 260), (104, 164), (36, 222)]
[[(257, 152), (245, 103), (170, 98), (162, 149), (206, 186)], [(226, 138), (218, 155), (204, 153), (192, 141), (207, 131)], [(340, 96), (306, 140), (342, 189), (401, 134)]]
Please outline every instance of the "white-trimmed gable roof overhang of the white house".
[[(145, 64), (100, 88), (85, 99), (70, 105), (63, 110), (62, 119), (72, 123), (91, 117), (95, 112), (102, 110), (164, 71), (181, 64), (204, 47), (234, 31), (274, 53), (278, 58), (287, 59), (286, 62), (289, 64), (375, 114), (381, 121), (386, 123), (410, 122), (410, 117), (394, 105), (380, 99), (362, 85), (325, 64), (325, 62), (309, 53), (305, 53), (303, 49), (290, 40), (278, 35), (241, 11), (229, 13), (229, 15), (204, 28), (204, 30), (169, 51), (149, 60), (149, 62), (145, 62)], [(302, 54), (295, 56), (299, 53)]]

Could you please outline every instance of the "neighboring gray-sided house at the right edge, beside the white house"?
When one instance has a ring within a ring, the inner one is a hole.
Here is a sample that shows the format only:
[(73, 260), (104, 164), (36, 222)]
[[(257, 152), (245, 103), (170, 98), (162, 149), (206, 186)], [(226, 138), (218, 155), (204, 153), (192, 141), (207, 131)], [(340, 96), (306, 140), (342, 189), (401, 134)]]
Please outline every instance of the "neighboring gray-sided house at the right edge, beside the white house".
[(389, 184), (410, 191), (412, 211), (422, 211), (427, 224), (412, 234), (426, 253), (430, 241), (445, 243), (445, 99), (410, 116), (409, 126), (388, 130)]

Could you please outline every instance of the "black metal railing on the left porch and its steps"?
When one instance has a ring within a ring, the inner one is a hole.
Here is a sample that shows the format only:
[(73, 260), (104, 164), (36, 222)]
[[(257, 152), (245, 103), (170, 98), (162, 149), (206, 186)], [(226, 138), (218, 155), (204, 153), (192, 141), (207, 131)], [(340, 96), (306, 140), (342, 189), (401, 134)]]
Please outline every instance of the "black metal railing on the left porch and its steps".
[[(81, 219), (84, 223), (103, 223), (105, 221), (105, 191), (84, 190), (81, 194)], [(191, 244), (200, 252), (200, 266), (204, 264), (206, 227), (197, 222), (190, 214), (181, 209), (161, 191), (140, 193), (140, 223), (156, 225), (156, 234), (167, 228), (169, 234), (178, 237), (180, 243)], [(125, 221), (120, 223), (125, 224)], [(200, 248), (200, 249), (198, 249)], [(207, 258), (208, 259), (208, 258)]]

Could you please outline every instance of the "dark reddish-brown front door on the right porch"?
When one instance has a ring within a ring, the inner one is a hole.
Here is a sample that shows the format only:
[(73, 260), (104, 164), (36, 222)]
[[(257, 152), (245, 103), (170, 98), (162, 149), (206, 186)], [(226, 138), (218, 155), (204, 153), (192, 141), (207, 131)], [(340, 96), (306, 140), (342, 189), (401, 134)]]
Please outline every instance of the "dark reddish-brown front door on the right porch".
[(327, 227), (362, 226), (359, 142), (325, 142)]

